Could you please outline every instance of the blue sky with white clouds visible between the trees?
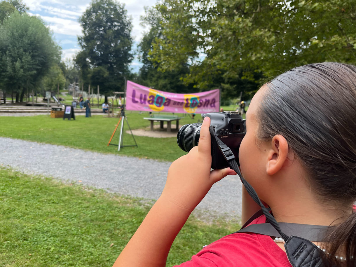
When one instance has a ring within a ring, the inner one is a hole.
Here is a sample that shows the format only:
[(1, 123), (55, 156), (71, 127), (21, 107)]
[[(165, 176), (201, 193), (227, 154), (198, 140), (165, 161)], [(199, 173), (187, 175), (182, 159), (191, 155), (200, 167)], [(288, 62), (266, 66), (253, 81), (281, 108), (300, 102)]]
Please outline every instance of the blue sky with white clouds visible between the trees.
[[(72, 59), (80, 51), (78, 36), (82, 35), (82, 28), (78, 19), (89, 7), (90, 0), (22, 0), (30, 8), (31, 15), (40, 16), (53, 32), (54, 40), (62, 47), (62, 60)], [(125, 4), (127, 15), (132, 17), (131, 36), (134, 40), (133, 48), (140, 43), (143, 32), (148, 29), (140, 26), (140, 16), (145, 14), (144, 6), (153, 6), (156, 0), (120, 0)], [(138, 72), (141, 63), (135, 58), (131, 63), (133, 72)]]

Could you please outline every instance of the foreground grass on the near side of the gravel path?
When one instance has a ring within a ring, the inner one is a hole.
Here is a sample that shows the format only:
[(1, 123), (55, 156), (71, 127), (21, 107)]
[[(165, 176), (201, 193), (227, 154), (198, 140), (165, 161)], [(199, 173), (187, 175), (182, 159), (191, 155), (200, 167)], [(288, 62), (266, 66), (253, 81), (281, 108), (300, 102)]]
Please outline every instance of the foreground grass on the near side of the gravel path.
[[(0, 266), (112, 266), (151, 205), (0, 168)], [(207, 225), (191, 216), (167, 266), (238, 229), (224, 220)]]

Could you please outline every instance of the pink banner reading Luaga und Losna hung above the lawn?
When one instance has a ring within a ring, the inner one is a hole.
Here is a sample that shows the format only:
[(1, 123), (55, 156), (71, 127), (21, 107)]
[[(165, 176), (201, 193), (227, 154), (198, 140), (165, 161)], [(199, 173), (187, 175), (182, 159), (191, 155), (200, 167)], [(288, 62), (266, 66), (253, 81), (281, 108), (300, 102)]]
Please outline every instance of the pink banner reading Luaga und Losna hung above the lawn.
[(176, 94), (127, 81), (126, 109), (174, 113), (208, 113), (219, 111), (220, 90)]

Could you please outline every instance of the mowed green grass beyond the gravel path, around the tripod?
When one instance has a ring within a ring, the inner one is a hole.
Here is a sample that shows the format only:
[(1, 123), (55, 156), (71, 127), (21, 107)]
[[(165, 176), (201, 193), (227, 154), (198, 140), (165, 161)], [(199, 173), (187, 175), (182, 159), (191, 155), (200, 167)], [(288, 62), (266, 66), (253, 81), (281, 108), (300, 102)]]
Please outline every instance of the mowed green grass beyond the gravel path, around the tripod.
[[(178, 115), (182, 116), (182, 114)], [(124, 121), (123, 145), (135, 145), (138, 147), (122, 147), (117, 151), (117, 146), (109, 145), (109, 140), (115, 130), (120, 118), (107, 118), (103, 115), (93, 115), (86, 118), (83, 115), (76, 116), (75, 120), (63, 120), (62, 118), (51, 118), (47, 115), (31, 117), (0, 117), (0, 136), (10, 137), (53, 145), (91, 150), (100, 153), (114, 153), (138, 158), (152, 158), (164, 161), (174, 161), (186, 152), (177, 145), (177, 137), (155, 138), (145, 136), (134, 136), (126, 133), (126, 130), (143, 129), (150, 126), (148, 112), (126, 112)], [(190, 116), (184, 116), (179, 125), (197, 122), (201, 115), (197, 114), (192, 120)], [(173, 122), (172, 124), (174, 124)], [(155, 124), (159, 124), (155, 122)], [(129, 125), (129, 126), (128, 126)], [(121, 125), (120, 125), (121, 127)], [(111, 143), (119, 143), (120, 127), (117, 128)], [(167, 127), (167, 123), (164, 123)], [(158, 130), (157, 130), (158, 131)], [(135, 140), (134, 140), (135, 138)]]

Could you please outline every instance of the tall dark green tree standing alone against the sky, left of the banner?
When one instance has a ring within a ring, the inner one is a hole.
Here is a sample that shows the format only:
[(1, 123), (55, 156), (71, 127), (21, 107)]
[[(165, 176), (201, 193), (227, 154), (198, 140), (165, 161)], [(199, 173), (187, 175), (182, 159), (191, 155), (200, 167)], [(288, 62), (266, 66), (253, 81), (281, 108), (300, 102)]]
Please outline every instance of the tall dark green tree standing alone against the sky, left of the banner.
[[(83, 36), (78, 37), (82, 51), (75, 62), (83, 81), (100, 85), (104, 94), (123, 90), (124, 78), (130, 74), (132, 26), (124, 7), (112, 0), (94, 0), (79, 19), (83, 27)], [(101, 74), (107, 74), (105, 79), (99, 77)]]

